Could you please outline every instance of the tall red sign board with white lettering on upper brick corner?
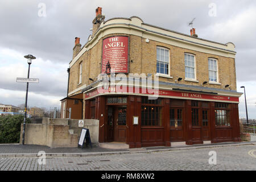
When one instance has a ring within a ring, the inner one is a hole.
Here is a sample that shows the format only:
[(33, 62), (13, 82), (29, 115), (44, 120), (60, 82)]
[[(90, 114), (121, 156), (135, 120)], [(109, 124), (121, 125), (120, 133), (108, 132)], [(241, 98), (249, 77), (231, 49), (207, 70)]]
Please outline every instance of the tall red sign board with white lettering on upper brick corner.
[(103, 40), (102, 73), (128, 73), (128, 37), (113, 36)]

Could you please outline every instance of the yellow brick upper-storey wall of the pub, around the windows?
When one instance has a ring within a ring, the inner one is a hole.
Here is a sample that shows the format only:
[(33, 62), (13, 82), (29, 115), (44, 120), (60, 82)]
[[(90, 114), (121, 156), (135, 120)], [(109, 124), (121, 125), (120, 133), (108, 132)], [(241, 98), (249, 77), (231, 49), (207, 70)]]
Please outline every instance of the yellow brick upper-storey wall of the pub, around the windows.
[[(112, 34), (104, 36), (119, 36), (126, 34)], [(177, 78), (182, 77), (183, 80), (179, 84), (202, 86), (204, 81), (208, 84), (204, 85), (210, 88), (224, 89), (225, 85), (230, 85), (232, 90), (236, 90), (236, 68), (233, 58), (211, 55), (208, 53), (192, 51), (180, 47), (171, 46), (169, 44), (150, 40), (149, 43), (141, 36), (129, 36), (129, 67), (130, 73), (156, 73), (156, 46), (163, 46), (170, 49), (170, 76), (173, 78), (159, 77), (159, 81), (175, 82)], [(103, 39), (104, 39), (103, 38)], [(196, 57), (196, 80), (199, 82), (185, 81), (185, 61), (184, 53), (192, 53)], [(98, 74), (101, 73), (101, 56), (102, 56), (102, 39), (89, 51), (86, 51), (79, 60), (71, 67), (69, 76), (69, 92), (92, 81), (96, 80)], [(213, 57), (218, 61), (218, 78), (221, 85), (209, 84), (208, 57)], [(133, 60), (133, 63), (130, 62)], [(82, 84), (79, 84), (79, 63), (82, 61)], [(228, 89), (228, 88), (226, 88)], [(73, 94), (80, 93), (76, 92)], [(73, 95), (72, 94), (72, 95)]]

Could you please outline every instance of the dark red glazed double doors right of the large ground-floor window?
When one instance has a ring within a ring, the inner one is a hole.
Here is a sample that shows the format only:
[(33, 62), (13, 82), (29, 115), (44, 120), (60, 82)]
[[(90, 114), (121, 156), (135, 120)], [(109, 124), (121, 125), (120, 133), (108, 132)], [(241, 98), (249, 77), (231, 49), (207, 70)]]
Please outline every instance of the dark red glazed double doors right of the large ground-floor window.
[(181, 142), (184, 140), (183, 115), (184, 111), (182, 108), (170, 109), (170, 140), (172, 142)]

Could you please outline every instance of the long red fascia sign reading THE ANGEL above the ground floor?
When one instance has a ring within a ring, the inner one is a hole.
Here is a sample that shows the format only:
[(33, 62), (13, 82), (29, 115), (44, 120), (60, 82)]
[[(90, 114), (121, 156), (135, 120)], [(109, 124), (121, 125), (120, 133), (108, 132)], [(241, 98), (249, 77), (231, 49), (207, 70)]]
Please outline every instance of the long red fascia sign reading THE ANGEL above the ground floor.
[(172, 90), (154, 90), (146, 88), (136, 88), (131, 86), (109, 86), (107, 89), (98, 88), (92, 90), (91, 92), (85, 93), (85, 98), (90, 98), (97, 96), (99, 94), (147, 94), (148, 96), (170, 96), (170, 97), (179, 97), (184, 99), (195, 98), (199, 100), (212, 100), (212, 101), (229, 101), (229, 102), (239, 102), (239, 97), (229, 97), (229, 96), (219, 96), (219, 95), (210, 95), (203, 93), (192, 93), (192, 92), (177, 92)]

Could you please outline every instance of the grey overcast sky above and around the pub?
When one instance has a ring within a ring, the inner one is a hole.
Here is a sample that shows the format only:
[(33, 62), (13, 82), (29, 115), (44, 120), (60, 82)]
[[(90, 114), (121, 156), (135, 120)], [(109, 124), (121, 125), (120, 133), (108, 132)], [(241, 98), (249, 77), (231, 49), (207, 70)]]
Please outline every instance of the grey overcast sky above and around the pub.
[[(256, 1), (19, 1), (0, 0), (0, 103), (24, 104), (27, 60), (32, 54), (28, 106), (60, 106), (67, 94), (67, 68), (75, 37), (86, 43), (95, 9), (102, 7), (105, 20), (139, 16), (143, 22), (190, 34), (188, 23), (199, 38), (236, 45), (237, 91), (245, 86), (249, 118), (256, 118)], [(44, 11), (45, 10), (45, 11)], [(240, 117), (245, 118), (244, 95)]]

